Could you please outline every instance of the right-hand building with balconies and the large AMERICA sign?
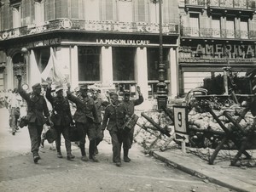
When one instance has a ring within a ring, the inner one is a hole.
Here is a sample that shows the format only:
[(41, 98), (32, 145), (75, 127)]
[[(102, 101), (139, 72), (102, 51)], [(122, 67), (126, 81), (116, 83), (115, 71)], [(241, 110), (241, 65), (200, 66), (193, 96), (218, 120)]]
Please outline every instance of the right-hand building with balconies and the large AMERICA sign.
[(179, 11), (180, 93), (227, 65), (240, 76), (256, 68), (255, 0), (179, 0)]

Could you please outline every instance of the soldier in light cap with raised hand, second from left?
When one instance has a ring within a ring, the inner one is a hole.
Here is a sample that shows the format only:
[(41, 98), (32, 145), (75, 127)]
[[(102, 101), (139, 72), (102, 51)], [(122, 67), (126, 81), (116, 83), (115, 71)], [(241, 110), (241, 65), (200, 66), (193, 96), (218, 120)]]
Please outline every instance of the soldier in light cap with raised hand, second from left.
[(51, 80), (48, 80), (48, 86), (46, 89), (46, 98), (52, 105), (52, 116), (51, 120), (54, 123), (54, 127), (57, 131), (56, 150), (57, 157), (63, 158), (61, 154), (61, 133), (65, 138), (65, 146), (67, 151), (67, 160), (73, 160), (74, 155), (71, 153), (71, 142), (68, 138), (68, 129), (70, 124), (73, 123), (73, 117), (71, 115), (70, 105), (68, 100), (63, 96), (63, 87), (58, 85), (55, 87), (56, 96), (53, 97), (51, 94)]

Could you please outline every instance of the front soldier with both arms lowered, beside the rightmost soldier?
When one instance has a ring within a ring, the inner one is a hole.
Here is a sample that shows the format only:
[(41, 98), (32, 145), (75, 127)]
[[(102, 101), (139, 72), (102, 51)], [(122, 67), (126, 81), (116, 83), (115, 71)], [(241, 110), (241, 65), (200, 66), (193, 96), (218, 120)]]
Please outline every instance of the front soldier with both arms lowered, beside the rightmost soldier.
[[(125, 133), (123, 127), (125, 125), (127, 109), (124, 104), (119, 102), (118, 94), (111, 92), (110, 104), (108, 104), (102, 121), (102, 130), (107, 127), (113, 146), (113, 162), (117, 167), (121, 166), (121, 146), (127, 144), (128, 134)], [(108, 126), (107, 126), (108, 123)]]

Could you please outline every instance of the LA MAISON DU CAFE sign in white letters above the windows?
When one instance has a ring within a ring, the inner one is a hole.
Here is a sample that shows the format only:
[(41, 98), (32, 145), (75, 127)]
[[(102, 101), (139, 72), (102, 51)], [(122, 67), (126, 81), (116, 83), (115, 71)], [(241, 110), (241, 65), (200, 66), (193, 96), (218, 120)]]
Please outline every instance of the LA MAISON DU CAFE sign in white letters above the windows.
[(97, 44), (102, 45), (148, 45), (148, 40), (125, 40), (125, 39), (96, 39)]

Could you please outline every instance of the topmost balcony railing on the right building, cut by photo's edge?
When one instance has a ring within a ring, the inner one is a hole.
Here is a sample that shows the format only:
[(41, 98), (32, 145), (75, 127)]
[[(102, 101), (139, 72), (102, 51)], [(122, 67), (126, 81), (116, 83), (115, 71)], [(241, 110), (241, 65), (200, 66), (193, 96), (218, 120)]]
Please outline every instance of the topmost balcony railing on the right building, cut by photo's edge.
[(202, 6), (217, 8), (256, 8), (255, 0), (185, 0), (186, 6)]

